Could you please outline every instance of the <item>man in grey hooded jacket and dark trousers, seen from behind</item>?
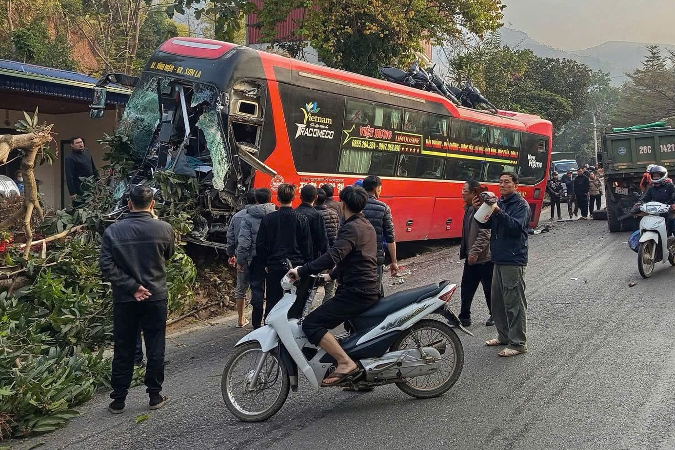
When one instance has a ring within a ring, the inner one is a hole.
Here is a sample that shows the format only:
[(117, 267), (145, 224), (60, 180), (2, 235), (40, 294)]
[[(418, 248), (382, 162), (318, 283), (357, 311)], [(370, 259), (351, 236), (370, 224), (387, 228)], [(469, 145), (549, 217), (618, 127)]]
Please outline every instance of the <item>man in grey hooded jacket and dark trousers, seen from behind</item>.
[[(237, 271), (248, 271), (251, 287), (251, 305), (254, 309), (262, 308), (265, 302), (265, 265), (261, 264), (257, 258), (256, 244), (258, 230), (263, 217), (275, 210), (272, 200), (272, 192), (267, 188), (257, 189), (255, 199), (258, 204), (248, 208), (242, 227), (239, 231), (239, 243), (237, 245)], [(242, 299), (243, 305), (243, 299)], [(239, 325), (246, 326), (249, 322), (240, 316)]]

